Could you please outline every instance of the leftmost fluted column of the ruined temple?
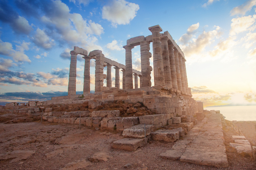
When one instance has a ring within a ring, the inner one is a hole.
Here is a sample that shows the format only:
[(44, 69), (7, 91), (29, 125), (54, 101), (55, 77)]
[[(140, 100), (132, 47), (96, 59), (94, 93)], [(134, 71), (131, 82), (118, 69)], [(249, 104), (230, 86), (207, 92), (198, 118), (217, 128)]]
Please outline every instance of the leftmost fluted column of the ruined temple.
[(68, 95), (76, 95), (76, 56), (77, 52), (70, 51), (70, 67), (68, 80)]

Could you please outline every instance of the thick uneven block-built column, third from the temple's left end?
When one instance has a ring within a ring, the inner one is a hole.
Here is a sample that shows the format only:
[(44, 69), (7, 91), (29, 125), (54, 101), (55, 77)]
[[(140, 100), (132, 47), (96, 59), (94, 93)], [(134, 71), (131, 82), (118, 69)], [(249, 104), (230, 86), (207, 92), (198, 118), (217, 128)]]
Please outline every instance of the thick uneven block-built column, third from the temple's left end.
[(107, 78), (106, 74), (103, 74), (104, 69), (104, 55), (102, 53), (96, 54), (95, 63), (95, 92), (101, 92), (103, 90), (104, 78)]

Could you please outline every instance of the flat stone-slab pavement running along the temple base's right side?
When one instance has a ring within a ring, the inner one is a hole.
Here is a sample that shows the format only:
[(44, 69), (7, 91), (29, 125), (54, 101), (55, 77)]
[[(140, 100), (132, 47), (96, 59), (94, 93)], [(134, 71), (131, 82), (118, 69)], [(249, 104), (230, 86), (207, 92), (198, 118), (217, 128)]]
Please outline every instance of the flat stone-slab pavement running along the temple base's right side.
[(221, 114), (208, 114), (191, 129), (183, 140), (160, 157), (215, 167), (228, 167), (221, 124)]

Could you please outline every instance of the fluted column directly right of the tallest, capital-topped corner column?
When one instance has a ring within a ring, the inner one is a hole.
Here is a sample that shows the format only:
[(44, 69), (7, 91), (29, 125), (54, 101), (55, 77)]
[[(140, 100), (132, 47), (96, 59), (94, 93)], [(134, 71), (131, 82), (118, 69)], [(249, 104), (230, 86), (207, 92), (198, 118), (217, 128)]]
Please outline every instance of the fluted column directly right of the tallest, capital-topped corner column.
[(164, 66), (164, 83), (165, 86), (172, 88), (171, 67), (167, 42), (168, 40), (169, 38), (167, 36), (161, 36), (161, 48)]

